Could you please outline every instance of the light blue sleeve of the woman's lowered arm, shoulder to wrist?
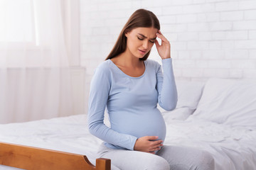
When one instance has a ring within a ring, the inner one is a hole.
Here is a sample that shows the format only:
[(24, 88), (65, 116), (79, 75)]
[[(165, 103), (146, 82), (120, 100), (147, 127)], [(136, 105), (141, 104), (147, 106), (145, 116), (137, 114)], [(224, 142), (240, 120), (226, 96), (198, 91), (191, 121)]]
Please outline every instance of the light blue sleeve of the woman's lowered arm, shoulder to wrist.
[(90, 98), (87, 121), (92, 135), (129, 150), (134, 149), (137, 137), (122, 134), (104, 124), (104, 113), (111, 89), (111, 75), (106, 68), (97, 68), (90, 85)]

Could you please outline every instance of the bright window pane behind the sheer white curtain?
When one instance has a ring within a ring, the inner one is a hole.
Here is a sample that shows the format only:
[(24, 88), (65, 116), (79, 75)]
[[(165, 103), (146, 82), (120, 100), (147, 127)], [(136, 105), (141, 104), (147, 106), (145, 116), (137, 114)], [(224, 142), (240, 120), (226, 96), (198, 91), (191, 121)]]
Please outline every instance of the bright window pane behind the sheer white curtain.
[(31, 0), (0, 1), (1, 42), (35, 40), (31, 5)]

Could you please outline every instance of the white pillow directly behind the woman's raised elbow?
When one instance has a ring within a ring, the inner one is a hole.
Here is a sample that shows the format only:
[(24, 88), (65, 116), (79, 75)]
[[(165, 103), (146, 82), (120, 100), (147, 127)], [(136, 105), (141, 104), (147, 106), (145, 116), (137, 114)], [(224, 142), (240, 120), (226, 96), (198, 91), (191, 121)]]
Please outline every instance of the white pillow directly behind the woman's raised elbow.
[(178, 103), (174, 111), (164, 111), (158, 106), (164, 118), (185, 120), (198, 106), (198, 102), (203, 92), (203, 82), (197, 81), (176, 81), (178, 92)]

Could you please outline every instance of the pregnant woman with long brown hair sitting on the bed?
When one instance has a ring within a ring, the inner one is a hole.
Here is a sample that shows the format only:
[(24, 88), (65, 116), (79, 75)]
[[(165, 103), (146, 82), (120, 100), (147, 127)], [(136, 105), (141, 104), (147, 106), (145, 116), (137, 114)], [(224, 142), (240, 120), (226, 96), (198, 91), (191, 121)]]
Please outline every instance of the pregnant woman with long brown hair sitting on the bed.
[[(158, 62), (147, 60), (154, 44), (163, 70)], [(156, 106), (171, 111), (177, 103), (170, 50), (154, 13), (138, 9), (95, 70), (88, 124), (92, 135), (105, 141), (98, 154), (111, 159), (112, 169), (214, 169), (208, 152), (163, 145), (166, 125)], [(111, 128), (103, 121), (106, 107)]]

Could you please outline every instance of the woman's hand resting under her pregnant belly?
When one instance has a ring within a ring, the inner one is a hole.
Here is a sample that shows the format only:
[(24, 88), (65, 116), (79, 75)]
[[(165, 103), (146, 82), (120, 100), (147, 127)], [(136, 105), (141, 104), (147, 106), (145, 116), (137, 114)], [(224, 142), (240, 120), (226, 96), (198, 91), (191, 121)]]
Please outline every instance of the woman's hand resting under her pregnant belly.
[(163, 141), (157, 139), (157, 136), (139, 137), (135, 142), (134, 150), (155, 154), (155, 151), (160, 150), (163, 146), (161, 144)]

